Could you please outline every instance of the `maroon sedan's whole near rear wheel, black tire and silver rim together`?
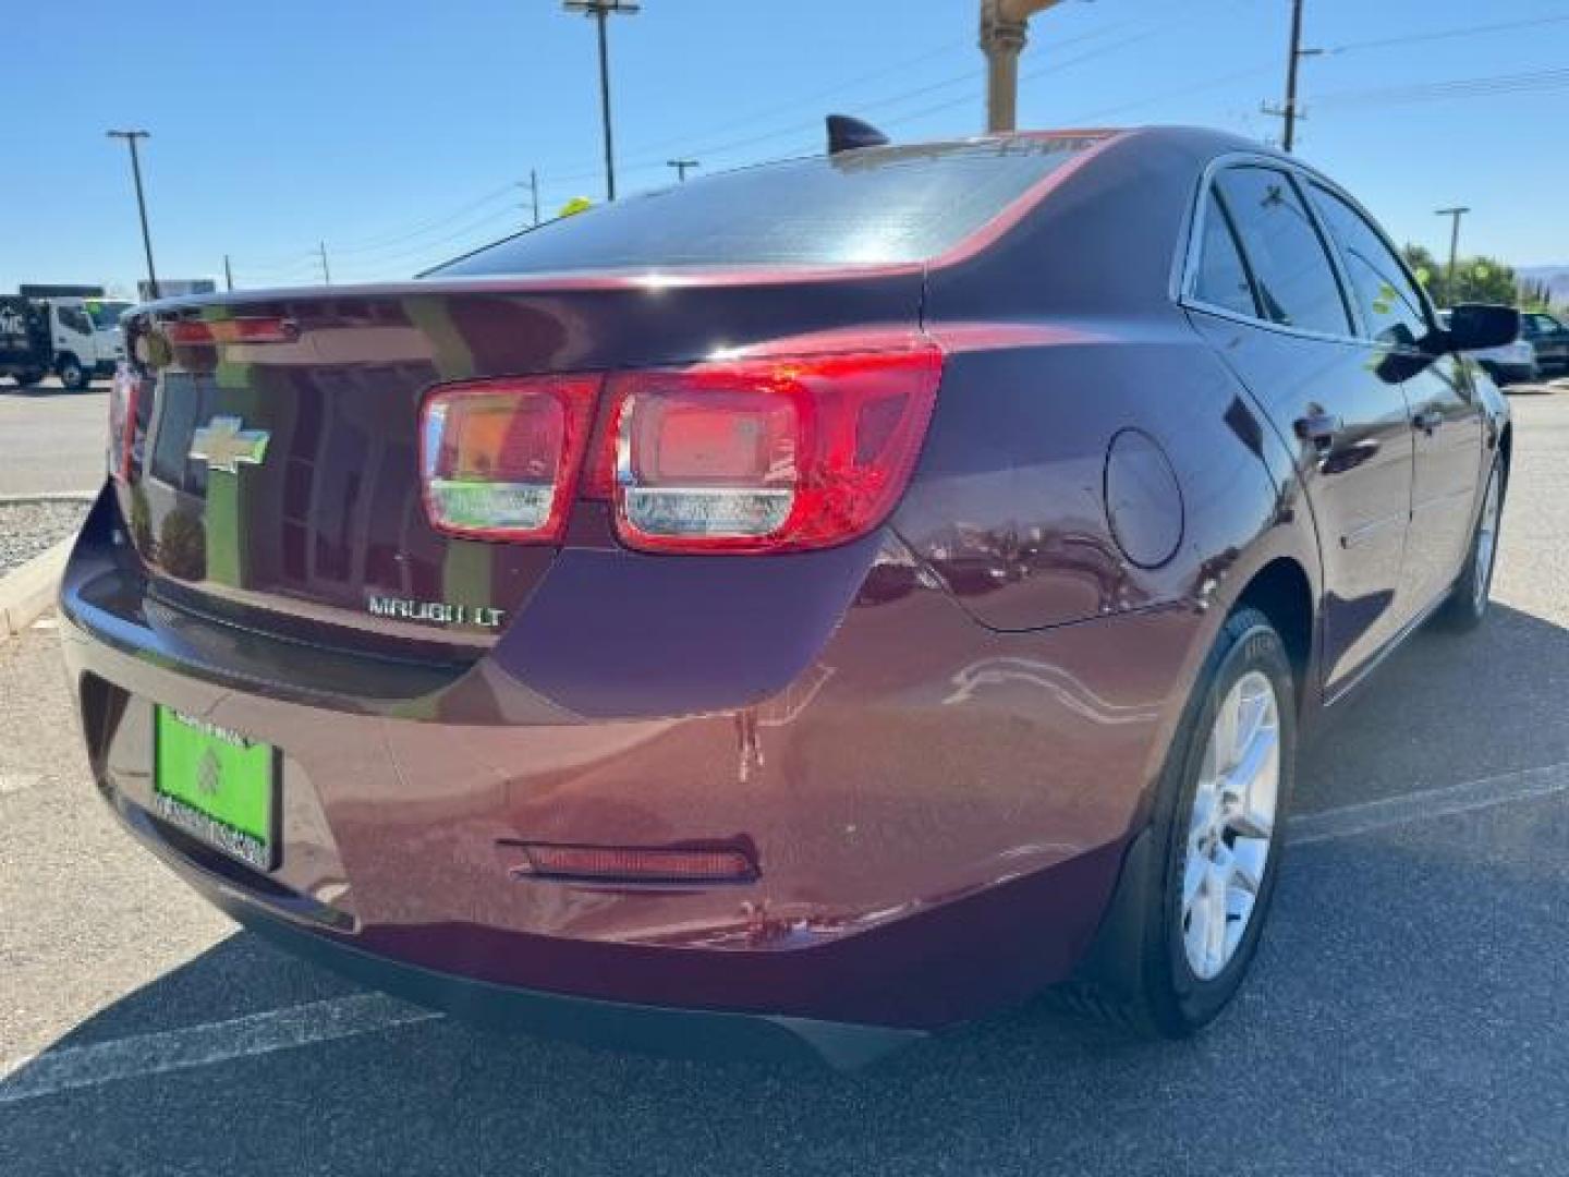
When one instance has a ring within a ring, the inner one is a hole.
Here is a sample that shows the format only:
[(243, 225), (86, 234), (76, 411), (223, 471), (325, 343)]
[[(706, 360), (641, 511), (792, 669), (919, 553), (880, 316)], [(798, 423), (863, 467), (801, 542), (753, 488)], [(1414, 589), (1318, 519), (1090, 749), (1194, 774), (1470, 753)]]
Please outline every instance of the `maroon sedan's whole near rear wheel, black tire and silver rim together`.
[(1269, 913), (1294, 761), (1285, 643), (1243, 607), (1205, 661), (1150, 829), (1084, 981), (1067, 989), (1072, 1004), (1163, 1037), (1186, 1037), (1225, 1008)]

